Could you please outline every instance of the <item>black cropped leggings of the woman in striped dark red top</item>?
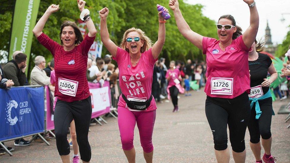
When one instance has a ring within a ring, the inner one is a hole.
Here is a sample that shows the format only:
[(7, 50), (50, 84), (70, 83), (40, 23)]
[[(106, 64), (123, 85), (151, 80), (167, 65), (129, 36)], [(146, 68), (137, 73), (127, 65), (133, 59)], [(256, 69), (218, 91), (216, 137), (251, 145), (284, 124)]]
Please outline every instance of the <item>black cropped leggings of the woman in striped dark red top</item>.
[(88, 140), (91, 117), (91, 96), (73, 102), (57, 100), (54, 111), (54, 131), (59, 155), (70, 154), (70, 145), (67, 142), (67, 129), (74, 119), (81, 159), (86, 162), (91, 160), (91, 146)]

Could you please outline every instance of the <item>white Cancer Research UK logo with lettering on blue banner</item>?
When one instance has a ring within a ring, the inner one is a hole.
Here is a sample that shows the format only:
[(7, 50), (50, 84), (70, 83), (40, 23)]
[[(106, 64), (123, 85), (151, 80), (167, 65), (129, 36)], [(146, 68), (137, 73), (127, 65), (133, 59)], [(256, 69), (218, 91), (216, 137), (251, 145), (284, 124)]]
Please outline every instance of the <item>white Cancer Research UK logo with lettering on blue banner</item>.
[[(17, 109), (18, 107), (18, 103), (15, 100), (11, 100), (9, 102), (7, 102), (7, 108), (6, 108), (6, 113), (7, 113), (7, 124), (10, 124), (11, 126), (14, 126), (17, 122), (18, 122), (18, 118), (17, 116), (15, 116), (13, 119), (11, 117), (11, 111), (12, 108)], [(20, 106), (21, 109), (19, 110), (19, 121), (23, 121), (23, 115), (27, 114), (27, 113), (31, 113), (31, 108), (28, 108), (28, 102), (24, 101), (24, 102), (20, 102)]]

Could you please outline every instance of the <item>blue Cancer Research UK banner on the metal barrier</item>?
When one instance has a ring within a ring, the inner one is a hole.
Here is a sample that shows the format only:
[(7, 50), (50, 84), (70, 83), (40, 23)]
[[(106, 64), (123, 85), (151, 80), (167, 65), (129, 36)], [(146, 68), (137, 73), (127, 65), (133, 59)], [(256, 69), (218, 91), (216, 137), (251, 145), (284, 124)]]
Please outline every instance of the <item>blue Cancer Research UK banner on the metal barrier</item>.
[(0, 141), (44, 132), (44, 88), (0, 89)]

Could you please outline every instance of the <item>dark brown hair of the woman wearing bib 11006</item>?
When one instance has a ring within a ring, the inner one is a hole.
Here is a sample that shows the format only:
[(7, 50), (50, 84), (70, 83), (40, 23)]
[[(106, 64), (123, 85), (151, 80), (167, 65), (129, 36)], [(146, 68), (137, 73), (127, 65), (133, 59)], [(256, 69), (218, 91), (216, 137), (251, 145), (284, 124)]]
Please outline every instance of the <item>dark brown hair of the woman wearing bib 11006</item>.
[(83, 35), (81, 34), (81, 30), (78, 28), (78, 25), (75, 22), (72, 22), (69, 20), (65, 20), (62, 23), (62, 26), (60, 27), (60, 33), (59, 33), (60, 44), (63, 45), (62, 30), (64, 29), (64, 27), (67, 27), (67, 26), (73, 27), (73, 29), (75, 31), (75, 38), (77, 38), (77, 40), (75, 40), (75, 44), (80, 44), (83, 41)]

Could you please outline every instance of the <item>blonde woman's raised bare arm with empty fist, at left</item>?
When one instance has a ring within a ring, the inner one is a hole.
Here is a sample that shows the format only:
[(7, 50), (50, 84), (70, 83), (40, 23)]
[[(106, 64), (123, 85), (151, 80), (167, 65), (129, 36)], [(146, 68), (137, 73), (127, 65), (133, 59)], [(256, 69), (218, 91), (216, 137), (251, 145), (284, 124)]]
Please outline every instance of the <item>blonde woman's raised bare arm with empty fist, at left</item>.
[(107, 7), (103, 8), (99, 12), (101, 17), (101, 40), (108, 51), (112, 54), (113, 57), (116, 57), (118, 46), (110, 39), (108, 27), (107, 27), (107, 16), (109, 14), (109, 9)]

